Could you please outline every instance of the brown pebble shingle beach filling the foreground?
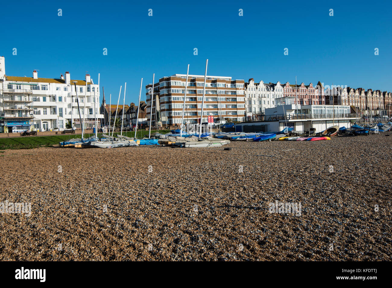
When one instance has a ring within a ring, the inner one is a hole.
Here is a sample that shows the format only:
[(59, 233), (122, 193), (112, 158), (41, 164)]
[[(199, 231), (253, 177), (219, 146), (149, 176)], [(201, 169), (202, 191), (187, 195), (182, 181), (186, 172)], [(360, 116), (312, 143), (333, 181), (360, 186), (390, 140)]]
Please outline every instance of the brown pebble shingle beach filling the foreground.
[(31, 216), (0, 214), (0, 260), (390, 260), (384, 135), (5, 150), (0, 202)]

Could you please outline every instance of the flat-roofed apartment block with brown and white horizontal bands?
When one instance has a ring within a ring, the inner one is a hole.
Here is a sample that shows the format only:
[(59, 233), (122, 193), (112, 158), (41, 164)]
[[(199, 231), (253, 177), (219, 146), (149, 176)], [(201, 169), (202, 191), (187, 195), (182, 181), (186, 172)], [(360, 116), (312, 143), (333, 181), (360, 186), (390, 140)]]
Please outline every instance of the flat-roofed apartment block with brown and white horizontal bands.
[[(156, 124), (158, 126), (169, 126), (181, 122), (186, 77), (186, 74), (174, 74), (169, 77), (162, 77), (159, 82), (154, 84), (152, 126), (156, 127)], [(184, 122), (190, 124), (200, 122), (203, 85), (203, 75), (188, 76)], [(145, 88), (147, 122), (149, 123), (152, 84), (146, 85)], [(201, 122), (208, 122), (208, 116), (212, 116), (214, 121), (218, 119), (242, 121), (245, 116), (244, 91), (244, 80), (232, 80), (231, 77), (227, 76), (207, 76)]]

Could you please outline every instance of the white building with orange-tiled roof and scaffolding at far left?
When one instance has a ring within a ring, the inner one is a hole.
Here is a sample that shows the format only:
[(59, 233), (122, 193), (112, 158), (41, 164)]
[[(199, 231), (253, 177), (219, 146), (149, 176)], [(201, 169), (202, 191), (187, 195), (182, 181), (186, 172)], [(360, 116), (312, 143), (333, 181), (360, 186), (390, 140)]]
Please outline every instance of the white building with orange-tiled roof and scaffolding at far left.
[(60, 78), (39, 78), (36, 70), (33, 77), (7, 76), (4, 57), (0, 57), (0, 132), (61, 131), (67, 122), (80, 128), (75, 81), (85, 128), (93, 128), (95, 116), (99, 128), (103, 118), (98, 114), (100, 91), (89, 74), (85, 80), (73, 80), (69, 72)]

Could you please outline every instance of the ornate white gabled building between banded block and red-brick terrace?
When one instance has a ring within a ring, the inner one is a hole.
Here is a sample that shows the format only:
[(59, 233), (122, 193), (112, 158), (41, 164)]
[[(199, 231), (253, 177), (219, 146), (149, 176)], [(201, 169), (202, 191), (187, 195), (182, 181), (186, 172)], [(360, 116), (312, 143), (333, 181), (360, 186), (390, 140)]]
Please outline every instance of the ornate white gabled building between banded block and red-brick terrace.
[(283, 87), (280, 82), (255, 83), (253, 78), (245, 83), (246, 115), (263, 114), (266, 108), (276, 106), (276, 98), (283, 97)]

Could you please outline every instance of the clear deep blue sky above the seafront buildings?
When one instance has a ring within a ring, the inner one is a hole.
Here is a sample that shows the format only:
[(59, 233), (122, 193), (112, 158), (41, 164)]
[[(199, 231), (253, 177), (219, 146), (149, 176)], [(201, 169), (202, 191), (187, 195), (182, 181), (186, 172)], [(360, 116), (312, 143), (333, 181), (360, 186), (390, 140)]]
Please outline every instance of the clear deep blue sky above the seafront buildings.
[(107, 103), (127, 82), (127, 104), (137, 101), (141, 77), (143, 100), (152, 73), (157, 82), (186, 74), (190, 64), (190, 74), (201, 75), (206, 58), (209, 75), (290, 83), (297, 76), (298, 83), (392, 91), (390, 1), (159, 3), (6, 1), (0, 40), (5, 72), (31, 76), (38, 69), (38, 77), (53, 78), (70, 71), (72, 79), (84, 79), (88, 71), (94, 83), (100, 73)]

